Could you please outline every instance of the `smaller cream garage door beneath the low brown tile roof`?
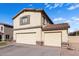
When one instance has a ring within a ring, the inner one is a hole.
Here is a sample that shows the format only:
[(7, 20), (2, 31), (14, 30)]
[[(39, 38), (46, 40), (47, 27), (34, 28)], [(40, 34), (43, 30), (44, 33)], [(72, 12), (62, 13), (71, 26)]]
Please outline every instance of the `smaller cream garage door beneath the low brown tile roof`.
[(45, 33), (44, 44), (47, 46), (61, 46), (61, 33)]

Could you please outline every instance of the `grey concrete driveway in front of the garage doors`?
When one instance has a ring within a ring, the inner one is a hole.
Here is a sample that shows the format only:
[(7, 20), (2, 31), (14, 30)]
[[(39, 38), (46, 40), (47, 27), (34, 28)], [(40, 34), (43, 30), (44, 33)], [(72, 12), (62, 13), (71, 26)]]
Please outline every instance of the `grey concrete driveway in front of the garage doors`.
[(0, 49), (0, 56), (59, 56), (61, 52), (57, 47), (31, 46), (14, 44)]

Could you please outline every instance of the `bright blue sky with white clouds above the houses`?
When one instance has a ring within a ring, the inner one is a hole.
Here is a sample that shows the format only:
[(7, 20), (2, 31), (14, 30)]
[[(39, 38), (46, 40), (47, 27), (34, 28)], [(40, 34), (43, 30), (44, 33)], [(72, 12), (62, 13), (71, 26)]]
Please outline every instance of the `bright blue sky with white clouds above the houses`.
[(69, 32), (79, 30), (78, 3), (0, 3), (0, 22), (12, 25), (12, 17), (23, 8), (44, 9), (55, 24), (68, 23)]

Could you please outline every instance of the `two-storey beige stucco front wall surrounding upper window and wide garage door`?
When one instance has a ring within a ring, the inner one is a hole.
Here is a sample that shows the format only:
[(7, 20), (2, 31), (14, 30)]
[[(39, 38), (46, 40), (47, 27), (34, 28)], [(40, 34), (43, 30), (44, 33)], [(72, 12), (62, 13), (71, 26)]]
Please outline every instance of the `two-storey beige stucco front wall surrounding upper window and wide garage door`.
[[(30, 15), (30, 24), (20, 25), (20, 17)], [(32, 28), (42, 26), (41, 21), (41, 13), (40, 12), (23, 12), (18, 17), (13, 20), (14, 25), (14, 33), (13, 38), (17, 43), (20, 43), (21, 40), (17, 40), (17, 33), (28, 33), (28, 32), (36, 32), (36, 41), (41, 40), (41, 28)], [(23, 29), (23, 28), (31, 28), (31, 29)], [(21, 29), (21, 30), (15, 30)], [(27, 38), (27, 37), (26, 37)], [(36, 43), (36, 42), (35, 42)]]

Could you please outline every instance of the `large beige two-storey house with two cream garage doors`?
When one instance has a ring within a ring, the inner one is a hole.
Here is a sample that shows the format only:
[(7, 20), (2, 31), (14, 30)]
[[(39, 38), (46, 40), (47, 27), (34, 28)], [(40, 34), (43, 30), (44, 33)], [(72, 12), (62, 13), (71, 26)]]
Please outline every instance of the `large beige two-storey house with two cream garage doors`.
[(44, 10), (23, 9), (13, 17), (16, 43), (58, 46), (68, 43), (67, 23), (54, 24)]

